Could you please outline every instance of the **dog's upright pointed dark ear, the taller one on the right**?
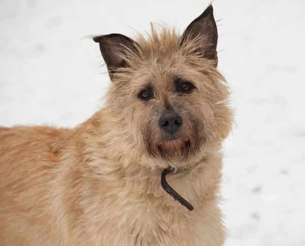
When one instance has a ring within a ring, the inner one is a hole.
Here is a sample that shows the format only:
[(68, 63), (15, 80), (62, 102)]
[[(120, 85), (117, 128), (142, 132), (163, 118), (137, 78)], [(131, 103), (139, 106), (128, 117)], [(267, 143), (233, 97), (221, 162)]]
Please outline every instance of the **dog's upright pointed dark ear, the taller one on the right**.
[(198, 49), (202, 56), (215, 61), (217, 66), (217, 26), (213, 15), (213, 7), (209, 5), (206, 10), (187, 27), (182, 34), (180, 45), (198, 39)]

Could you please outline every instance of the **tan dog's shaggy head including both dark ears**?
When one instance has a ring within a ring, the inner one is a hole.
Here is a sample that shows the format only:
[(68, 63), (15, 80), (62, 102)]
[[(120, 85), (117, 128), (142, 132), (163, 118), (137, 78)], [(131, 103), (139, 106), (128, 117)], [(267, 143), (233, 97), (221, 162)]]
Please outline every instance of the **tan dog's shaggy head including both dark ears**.
[(182, 36), (152, 29), (137, 41), (121, 34), (94, 38), (113, 82), (108, 103), (151, 158), (188, 163), (219, 146), (231, 128), (212, 7)]

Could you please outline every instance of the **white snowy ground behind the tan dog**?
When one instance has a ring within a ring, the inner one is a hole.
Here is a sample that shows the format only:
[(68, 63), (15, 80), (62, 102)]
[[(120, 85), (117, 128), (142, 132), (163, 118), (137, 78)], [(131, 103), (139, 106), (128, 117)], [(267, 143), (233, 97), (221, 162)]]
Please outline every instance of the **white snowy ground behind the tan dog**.
[[(229, 3), (230, 2), (230, 3)], [(98, 33), (185, 28), (208, 1), (0, 0), (0, 125), (75, 126), (108, 85)], [(226, 246), (305, 245), (305, 2), (216, 0), (236, 126), (225, 144)]]

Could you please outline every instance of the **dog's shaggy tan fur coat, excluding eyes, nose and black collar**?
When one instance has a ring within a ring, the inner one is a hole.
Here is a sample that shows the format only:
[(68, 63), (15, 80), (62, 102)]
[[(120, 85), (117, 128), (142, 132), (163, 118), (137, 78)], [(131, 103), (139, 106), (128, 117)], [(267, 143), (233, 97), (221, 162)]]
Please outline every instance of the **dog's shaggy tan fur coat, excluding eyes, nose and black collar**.
[[(94, 38), (112, 83), (86, 122), (0, 128), (1, 246), (223, 245), (220, 149), (232, 112), (212, 7), (182, 36), (159, 29)], [(177, 91), (181, 81), (191, 93)], [(154, 96), (144, 101), (147, 87)], [(158, 127), (166, 108), (184, 122), (173, 140)], [(162, 189), (168, 165), (192, 212)]]

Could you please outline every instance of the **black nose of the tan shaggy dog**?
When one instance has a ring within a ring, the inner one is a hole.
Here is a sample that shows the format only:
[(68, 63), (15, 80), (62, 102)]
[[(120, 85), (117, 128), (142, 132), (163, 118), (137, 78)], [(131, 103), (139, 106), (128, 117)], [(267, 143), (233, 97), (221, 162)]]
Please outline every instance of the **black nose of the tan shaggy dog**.
[(165, 110), (159, 119), (159, 126), (166, 132), (173, 133), (182, 125), (181, 117), (172, 110)]

